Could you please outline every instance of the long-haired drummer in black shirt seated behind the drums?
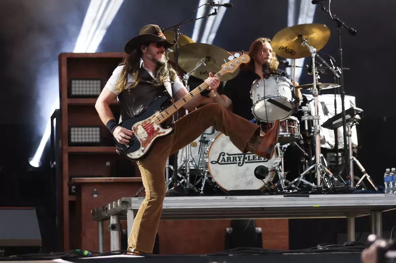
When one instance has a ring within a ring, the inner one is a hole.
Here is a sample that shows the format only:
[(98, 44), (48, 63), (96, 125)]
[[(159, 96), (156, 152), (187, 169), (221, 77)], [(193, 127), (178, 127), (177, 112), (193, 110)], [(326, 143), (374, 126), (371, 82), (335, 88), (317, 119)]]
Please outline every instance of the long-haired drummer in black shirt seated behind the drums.
[[(253, 101), (250, 98), (250, 90), (253, 81), (263, 77), (263, 64), (267, 64), (268, 70), (272, 75), (281, 75), (290, 79), (286, 71), (278, 68), (279, 62), (276, 54), (272, 50), (271, 40), (268, 38), (257, 38), (250, 45), (249, 56), (251, 58), (248, 64), (240, 66), (240, 72), (236, 77), (226, 82), (223, 94), (212, 90), (209, 97), (213, 102), (219, 103), (226, 109), (232, 106), (232, 112), (247, 120), (254, 121), (251, 112)], [(298, 83), (293, 82), (294, 86)], [(295, 88), (296, 100), (302, 99), (301, 92)]]

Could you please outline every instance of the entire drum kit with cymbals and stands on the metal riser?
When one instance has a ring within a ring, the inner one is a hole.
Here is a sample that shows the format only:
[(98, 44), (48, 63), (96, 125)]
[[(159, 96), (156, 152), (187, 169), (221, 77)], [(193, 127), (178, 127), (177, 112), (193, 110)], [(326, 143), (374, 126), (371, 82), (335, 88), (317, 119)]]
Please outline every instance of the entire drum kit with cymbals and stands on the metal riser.
[[(167, 38), (172, 39), (174, 32), (168, 30), (164, 34)], [(178, 185), (201, 195), (206, 195), (210, 190), (214, 190), (215, 193), (230, 194), (232, 192), (286, 193), (307, 189), (309, 191), (331, 192), (336, 187), (348, 188), (350, 184), (339, 174), (333, 175), (331, 173), (320, 147), (321, 126), (318, 114), (318, 92), (340, 86), (333, 83), (318, 83), (319, 74), (315, 68), (316, 58), (319, 58), (322, 64), (335, 76), (339, 76), (337, 68), (329, 66), (317, 54), (317, 51), (326, 45), (329, 37), (330, 30), (324, 24), (300, 24), (282, 29), (272, 39), (272, 48), (278, 56), (294, 60), (311, 56), (313, 72), (313, 83), (297, 87), (293, 85), (292, 81), (279, 75), (267, 75), (254, 81), (251, 85), (250, 94), (253, 102), (251, 111), (263, 134), (272, 127), (276, 119), (280, 120), (280, 137), (276, 145), (276, 153), (272, 159), (267, 160), (255, 154), (240, 152), (227, 136), (210, 127), (200, 137), (179, 151), (177, 162)], [(208, 77), (209, 72), (219, 71), (221, 65), (227, 62), (227, 59), (234, 58), (232, 54), (220, 47), (195, 43), (192, 39), (180, 33), (178, 33), (176, 49), (178, 53), (177, 64), (179, 68), (187, 72), (183, 77), (186, 88), (188, 88), (187, 81), (190, 76), (204, 80)], [(175, 62), (175, 50), (173, 48), (167, 50), (167, 56), (169, 61)], [(238, 56), (238, 54), (235, 54), (235, 56)], [(293, 81), (295, 80), (295, 67), (294, 63)], [(224, 75), (221, 81), (232, 79), (238, 72), (239, 69), (232, 74)], [(307, 89), (314, 97), (313, 112), (306, 106), (300, 107), (301, 109), (298, 110), (303, 112), (301, 120), (292, 116), (296, 112), (296, 106), (299, 107), (296, 105), (298, 101), (295, 101), (295, 88)], [(348, 123), (356, 124), (356, 119), (361, 113), (362, 111), (354, 111), (351, 117), (353, 120)], [(188, 113), (186, 112), (186, 114)], [(333, 118), (338, 117), (339, 115)], [(308, 154), (297, 143), (304, 140), (300, 130), (300, 122), (303, 122), (305, 130), (308, 130), (305, 136), (309, 137), (312, 142), (314, 156)], [(303, 172), (299, 173), (299, 176), (294, 180), (288, 181), (286, 180), (287, 171), (284, 169), (284, 153), (290, 145), (299, 148), (301, 152)], [(167, 167), (173, 169), (172, 166), (168, 165)], [(175, 171), (173, 172), (176, 174)], [(362, 172), (365, 173), (363, 167)], [(311, 182), (305, 178), (307, 173), (313, 175)], [(365, 173), (365, 176), (376, 188), (367, 173)], [(195, 177), (194, 182), (190, 177)], [(316, 180), (313, 178), (316, 178)], [(363, 177), (362, 179), (358, 177), (354, 179), (356, 179), (356, 182), (359, 181), (360, 186), (365, 187), (362, 182)], [(167, 176), (167, 181), (167, 190), (169, 190), (172, 178)]]

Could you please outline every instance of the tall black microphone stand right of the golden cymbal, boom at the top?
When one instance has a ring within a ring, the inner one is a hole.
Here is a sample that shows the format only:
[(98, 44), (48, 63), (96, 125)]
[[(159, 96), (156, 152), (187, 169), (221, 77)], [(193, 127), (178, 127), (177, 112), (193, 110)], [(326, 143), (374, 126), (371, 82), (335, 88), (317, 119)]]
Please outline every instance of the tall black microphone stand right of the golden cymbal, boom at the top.
[(340, 67), (341, 67), (341, 86), (340, 86), (340, 93), (341, 93), (341, 110), (342, 110), (342, 120), (343, 120), (343, 137), (344, 137), (344, 158), (345, 158), (345, 169), (346, 169), (346, 174), (351, 175), (352, 178), (350, 178), (350, 187), (353, 187), (353, 173), (349, 171), (348, 167), (348, 162), (352, 156), (349, 156), (349, 150), (348, 150), (348, 144), (346, 142), (346, 117), (345, 117), (345, 91), (344, 91), (344, 70), (343, 70), (343, 49), (341, 48), (341, 28), (345, 27), (348, 29), (349, 34), (352, 36), (356, 35), (356, 30), (353, 28), (350, 28), (347, 26), (343, 21), (339, 20), (338, 17), (335, 15), (331, 15), (329, 10), (327, 10), (323, 4), (321, 4), (320, 9), (328, 13), (336, 23), (337, 23), (337, 31), (338, 31), (338, 46), (339, 46), (339, 57), (340, 57)]

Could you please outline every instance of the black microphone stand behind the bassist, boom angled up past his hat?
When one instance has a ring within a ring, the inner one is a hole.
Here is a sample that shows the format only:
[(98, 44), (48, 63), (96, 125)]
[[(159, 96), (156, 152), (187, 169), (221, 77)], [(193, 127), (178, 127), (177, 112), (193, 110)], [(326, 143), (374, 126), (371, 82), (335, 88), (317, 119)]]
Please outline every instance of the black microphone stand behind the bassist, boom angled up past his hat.
[[(198, 7), (199, 8), (199, 7)], [(213, 7), (212, 7), (213, 8)], [(190, 20), (188, 20), (188, 21), (182, 21), (182, 22), (180, 22), (179, 24), (175, 24), (175, 25), (173, 25), (173, 26), (169, 26), (169, 27), (167, 27), (167, 28), (161, 28), (161, 30), (164, 32), (165, 30), (169, 30), (169, 29), (172, 29), (174, 32), (175, 32), (175, 37), (174, 37), (174, 39), (176, 40), (176, 45), (175, 45), (175, 55), (174, 55), (174, 57), (175, 57), (175, 66), (174, 66), (174, 68), (175, 68), (175, 70), (176, 70), (176, 72), (178, 72), (178, 70), (179, 70), (179, 28), (180, 28), (180, 26), (183, 26), (183, 24), (187, 24), (187, 23), (191, 23), (191, 22), (195, 22), (195, 21), (197, 21), (198, 19), (203, 19), (203, 18), (206, 18), (206, 17), (210, 17), (211, 15), (217, 15), (217, 9), (216, 8), (213, 8), (214, 9), (214, 11), (213, 11), (213, 13), (210, 13), (210, 14), (208, 14), (208, 15), (205, 15), (205, 16), (203, 16), (203, 17), (198, 17), (198, 18), (194, 18), (194, 17), (192, 17)], [(178, 114), (177, 114), (177, 111), (173, 114), (173, 118), (175, 119), (175, 121), (178, 119)], [(179, 152), (175, 152), (174, 154), (173, 154), (173, 156), (174, 156), (174, 159), (173, 159), (173, 167), (174, 167), (174, 169), (173, 169), (173, 174), (172, 174), (172, 181), (173, 181), (173, 187), (174, 188), (176, 188), (177, 187), (177, 154), (178, 154)]]

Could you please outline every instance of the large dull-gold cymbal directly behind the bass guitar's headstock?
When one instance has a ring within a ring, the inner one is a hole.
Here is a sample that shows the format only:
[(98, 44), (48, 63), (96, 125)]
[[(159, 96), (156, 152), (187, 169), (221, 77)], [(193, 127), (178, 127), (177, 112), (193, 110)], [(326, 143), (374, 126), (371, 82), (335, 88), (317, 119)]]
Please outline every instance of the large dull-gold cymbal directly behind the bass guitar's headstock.
[[(190, 43), (183, 45), (179, 49), (179, 66), (186, 72), (191, 72), (200, 63), (202, 59), (206, 66), (201, 66), (191, 75), (198, 79), (206, 79), (209, 77), (209, 72), (217, 73), (221, 70), (223, 65), (228, 58), (232, 56), (231, 53), (225, 51), (220, 47), (205, 43)], [(234, 57), (234, 56), (232, 56)], [(239, 68), (233, 73), (228, 73), (220, 78), (220, 81), (227, 81), (238, 75)]]

